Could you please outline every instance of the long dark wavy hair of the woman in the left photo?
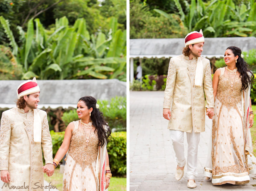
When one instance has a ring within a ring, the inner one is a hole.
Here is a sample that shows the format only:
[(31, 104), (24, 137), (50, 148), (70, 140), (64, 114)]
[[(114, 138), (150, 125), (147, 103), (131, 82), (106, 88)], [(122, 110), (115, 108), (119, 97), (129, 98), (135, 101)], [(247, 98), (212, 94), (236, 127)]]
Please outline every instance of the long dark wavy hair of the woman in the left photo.
[[(99, 109), (96, 108), (97, 100), (92, 96), (85, 96), (81, 97), (79, 101), (82, 100), (88, 109), (92, 107), (91, 112), (91, 119), (92, 119), (92, 125), (95, 127), (95, 130), (97, 130), (98, 133), (98, 139), (99, 139), (99, 146), (103, 146), (105, 144), (108, 144), (108, 139), (111, 138), (111, 130), (108, 127), (107, 122), (105, 121), (105, 117), (103, 116), (103, 113), (100, 112)], [(107, 126), (108, 129), (106, 130), (104, 126)]]

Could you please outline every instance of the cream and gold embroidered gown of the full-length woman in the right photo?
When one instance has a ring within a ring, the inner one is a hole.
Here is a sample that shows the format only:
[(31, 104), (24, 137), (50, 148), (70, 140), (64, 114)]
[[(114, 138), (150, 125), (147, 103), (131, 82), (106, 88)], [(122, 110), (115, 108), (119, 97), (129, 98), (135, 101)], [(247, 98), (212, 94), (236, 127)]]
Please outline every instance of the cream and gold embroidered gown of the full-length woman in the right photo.
[(214, 104), (212, 136), (204, 175), (214, 185), (250, 181), (241, 104), (241, 79), (231, 89), (229, 79), (219, 78)]

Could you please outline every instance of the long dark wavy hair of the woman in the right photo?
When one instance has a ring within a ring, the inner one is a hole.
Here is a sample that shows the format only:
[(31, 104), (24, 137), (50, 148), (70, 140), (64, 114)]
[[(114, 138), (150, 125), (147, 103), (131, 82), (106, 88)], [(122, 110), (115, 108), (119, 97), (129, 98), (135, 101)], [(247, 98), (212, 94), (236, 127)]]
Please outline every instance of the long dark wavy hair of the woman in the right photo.
[[(252, 88), (252, 83), (255, 83), (256, 79), (254, 78), (253, 73), (250, 70), (248, 70), (248, 64), (246, 63), (246, 61), (243, 58), (241, 58), (241, 49), (236, 46), (229, 46), (227, 49), (230, 49), (233, 52), (234, 56), (238, 56), (236, 67), (238, 72), (240, 73), (242, 81), (242, 90), (248, 88), (249, 84), (251, 84)], [(251, 76), (249, 76), (248, 73), (251, 73)]]

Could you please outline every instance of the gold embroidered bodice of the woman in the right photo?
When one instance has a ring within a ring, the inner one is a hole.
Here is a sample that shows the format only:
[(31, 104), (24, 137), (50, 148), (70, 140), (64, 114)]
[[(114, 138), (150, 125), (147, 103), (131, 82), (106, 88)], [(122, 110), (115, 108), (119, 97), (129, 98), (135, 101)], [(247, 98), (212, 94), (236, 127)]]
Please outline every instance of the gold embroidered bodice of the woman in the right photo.
[(219, 77), (216, 97), (223, 105), (228, 108), (228, 110), (230, 109), (230, 107), (234, 107), (237, 103), (241, 102), (241, 78), (236, 78), (233, 88), (230, 85), (231, 83), (228, 76), (221, 75)]

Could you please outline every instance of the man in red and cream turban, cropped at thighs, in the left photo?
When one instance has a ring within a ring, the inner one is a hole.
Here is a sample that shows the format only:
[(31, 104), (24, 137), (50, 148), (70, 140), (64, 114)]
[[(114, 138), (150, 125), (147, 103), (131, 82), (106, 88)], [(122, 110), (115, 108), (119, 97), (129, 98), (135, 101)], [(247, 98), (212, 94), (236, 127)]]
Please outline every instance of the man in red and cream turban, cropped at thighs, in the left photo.
[[(52, 137), (47, 114), (37, 109), (39, 86), (36, 78), (21, 83), (17, 88), (17, 107), (2, 114), (0, 127), (0, 171), (5, 183), (2, 190), (43, 191), (43, 172), (51, 176)], [(42, 150), (45, 158), (44, 171)]]

